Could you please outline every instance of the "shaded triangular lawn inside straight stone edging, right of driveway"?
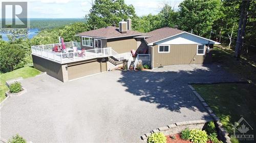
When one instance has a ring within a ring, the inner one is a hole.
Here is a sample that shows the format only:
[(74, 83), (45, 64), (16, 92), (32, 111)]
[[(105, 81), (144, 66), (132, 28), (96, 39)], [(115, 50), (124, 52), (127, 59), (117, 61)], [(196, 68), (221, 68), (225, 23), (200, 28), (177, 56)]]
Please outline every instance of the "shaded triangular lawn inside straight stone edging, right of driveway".
[(254, 84), (194, 84), (193, 87), (214, 110), (228, 133), (232, 134), (234, 122), (238, 122), (241, 117), (244, 117), (252, 128), (256, 127), (256, 88)]

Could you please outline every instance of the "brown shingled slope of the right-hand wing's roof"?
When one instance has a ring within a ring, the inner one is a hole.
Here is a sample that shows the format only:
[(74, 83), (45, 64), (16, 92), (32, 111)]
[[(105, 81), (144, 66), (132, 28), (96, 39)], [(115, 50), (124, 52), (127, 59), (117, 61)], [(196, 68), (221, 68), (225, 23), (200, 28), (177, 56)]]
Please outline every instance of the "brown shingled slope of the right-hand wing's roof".
[(150, 43), (154, 43), (157, 42), (159, 40), (162, 40), (164, 38), (168, 38), (180, 33), (183, 33), (184, 31), (181, 30), (177, 30), (175, 28), (170, 28), (170, 27), (163, 27), (163, 28), (159, 28), (157, 30), (154, 30), (152, 32), (146, 33), (145, 35), (143, 35), (144, 37), (149, 37), (146, 38), (145, 41), (147, 42), (147, 44)]

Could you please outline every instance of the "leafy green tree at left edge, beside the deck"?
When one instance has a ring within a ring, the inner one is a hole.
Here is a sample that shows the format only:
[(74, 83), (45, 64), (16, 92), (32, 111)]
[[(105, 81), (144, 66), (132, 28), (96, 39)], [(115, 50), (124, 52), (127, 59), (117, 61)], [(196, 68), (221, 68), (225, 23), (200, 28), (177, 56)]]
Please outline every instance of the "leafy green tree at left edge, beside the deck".
[(0, 70), (8, 72), (24, 61), (26, 50), (20, 47), (21, 44), (0, 43)]

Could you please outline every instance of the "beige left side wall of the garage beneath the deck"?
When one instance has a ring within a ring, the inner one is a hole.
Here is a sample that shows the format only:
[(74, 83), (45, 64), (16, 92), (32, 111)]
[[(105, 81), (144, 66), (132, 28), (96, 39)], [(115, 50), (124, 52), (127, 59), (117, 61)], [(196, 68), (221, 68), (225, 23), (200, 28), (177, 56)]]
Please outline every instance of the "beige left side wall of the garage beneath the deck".
[(33, 65), (35, 69), (41, 72), (47, 72), (48, 75), (55, 77), (60, 81), (65, 82), (65, 78), (63, 78), (63, 73), (62, 73), (63, 65), (41, 58), (36, 55), (32, 55), (32, 59), (33, 59)]

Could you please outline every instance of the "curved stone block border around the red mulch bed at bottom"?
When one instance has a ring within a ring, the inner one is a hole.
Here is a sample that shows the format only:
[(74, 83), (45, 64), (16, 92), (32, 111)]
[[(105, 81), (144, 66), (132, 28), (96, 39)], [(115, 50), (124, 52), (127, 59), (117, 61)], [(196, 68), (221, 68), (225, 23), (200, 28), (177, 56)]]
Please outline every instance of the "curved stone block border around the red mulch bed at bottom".
[(164, 127), (157, 128), (152, 130), (149, 133), (143, 134), (140, 138), (143, 141), (146, 141), (147, 138), (156, 132), (162, 132), (164, 135), (176, 134), (184, 130), (185, 128), (189, 129), (203, 129), (205, 124), (211, 120), (195, 120), (195, 121), (185, 121), (185, 122), (176, 122)]

